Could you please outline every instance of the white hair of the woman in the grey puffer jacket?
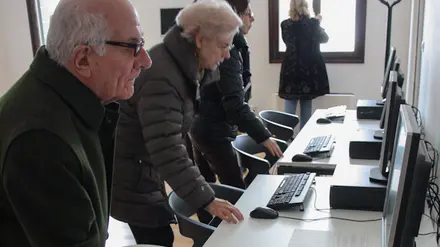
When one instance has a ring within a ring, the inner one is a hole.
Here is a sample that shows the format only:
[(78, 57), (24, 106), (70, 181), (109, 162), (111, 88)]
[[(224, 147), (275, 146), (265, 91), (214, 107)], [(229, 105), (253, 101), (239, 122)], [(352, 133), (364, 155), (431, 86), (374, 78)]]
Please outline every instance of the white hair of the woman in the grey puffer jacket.
[(224, 0), (198, 0), (182, 9), (176, 23), (183, 28), (182, 35), (192, 41), (200, 31), (207, 38), (233, 35), (243, 22)]

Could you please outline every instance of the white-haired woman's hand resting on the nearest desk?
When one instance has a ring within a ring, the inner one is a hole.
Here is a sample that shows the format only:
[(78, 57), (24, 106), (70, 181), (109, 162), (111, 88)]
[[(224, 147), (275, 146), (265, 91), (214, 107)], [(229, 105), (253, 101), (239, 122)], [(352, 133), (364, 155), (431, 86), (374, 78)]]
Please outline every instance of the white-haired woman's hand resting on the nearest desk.
[(206, 210), (220, 219), (237, 224), (239, 221), (243, 220), (243, 215), (240, 210), (238, 210), (230, 202), (215, 198), (207, 207)]

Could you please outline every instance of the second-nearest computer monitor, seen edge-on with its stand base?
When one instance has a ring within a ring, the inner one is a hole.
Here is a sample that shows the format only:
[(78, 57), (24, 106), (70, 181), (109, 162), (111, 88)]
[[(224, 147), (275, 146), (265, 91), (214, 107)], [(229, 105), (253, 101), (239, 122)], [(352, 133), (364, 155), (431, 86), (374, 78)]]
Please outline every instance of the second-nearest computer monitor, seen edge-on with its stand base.
[(396, 134), (397, 120), (399, 118), (399, 107), (402, 102), (402, 90), (397, 87), (396, 72), (392, 71), (390, 75), (390, 88), (388, 90), (386, 102), (386, 116), (384, 136), (380, 152), (379, 166), (370, 170), (370, 181), (380, 184), (386, 184), (388, 179), (388, 164), (392, 159), (392, 150), (394, 146), (394, 136)]

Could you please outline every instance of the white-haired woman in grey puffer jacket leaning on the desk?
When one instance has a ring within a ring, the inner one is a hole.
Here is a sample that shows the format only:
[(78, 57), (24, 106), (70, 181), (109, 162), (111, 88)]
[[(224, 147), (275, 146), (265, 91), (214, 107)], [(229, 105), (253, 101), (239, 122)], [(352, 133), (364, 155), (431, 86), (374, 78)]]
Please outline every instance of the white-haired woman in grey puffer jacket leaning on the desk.
[(166, 208), (164, 181), (194, 210), (231, 223), (243, 219), (232, 204), (215, 198), (185, 147), (199, 87), (219, 79), (217, 66), (229, 58), (241, 25), (225, 1), (187, 6), (149, 51), (154, 63), (136, 80), (134, 96), (120, 103), (112, 216), (129, 224), (138, 244), (173, 244), (175, 219)]

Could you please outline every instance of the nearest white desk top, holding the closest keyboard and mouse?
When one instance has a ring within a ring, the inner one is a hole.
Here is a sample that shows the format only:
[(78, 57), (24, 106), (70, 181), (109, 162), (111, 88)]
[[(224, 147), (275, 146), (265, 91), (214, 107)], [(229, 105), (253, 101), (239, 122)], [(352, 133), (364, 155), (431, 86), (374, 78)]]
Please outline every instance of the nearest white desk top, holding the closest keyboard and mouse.
[[(265, 206), (272, 194), (275, 192), (283, 176), (277, 175), (258, 175), (249, 188), (236, 203), (236, 206), (244, 215), (244, 221), (237, 225), (222, 222), (215, 232), (211, 235), (204, 246), (207, 247), (287, 247), (294, 229), (309, 229), (323, 231), (348, 231), (373, 235), (378, 238), (381, 236), (382, 222), (357, 223), (350, 221), (341, 221), (335, 219), (326, 219), (313, 222), (297, 221), (293, 219), (277, 218), (273, 220), (253, 219), (249, 213), (257, 206)], [(316, 178), (318, 209), (329, 208), (329, 184), (328, 177)], [(280, 212), (280, 215), (297, 217), (303, 219), (313, 219), (322, 217), (342, 217), (350, 219), (378, 219), (381, 218), (381, 212), (354, 211), (354, 210), (326, 210), (317, 211), (313, 202), (315, 192), (311, 194), (305, 202), (304, 212), (292, 210), (290, 212)], [(432, 232), (432, 224), (423, 217), (420, 232)], [(380, 245), (378, 245), (380, 246)], [(431, 247), (435, 245), (433, 235), (423, 236), (417, 239), (418, 247)], [(374, 246), (371, 246), (374, 247)]]

